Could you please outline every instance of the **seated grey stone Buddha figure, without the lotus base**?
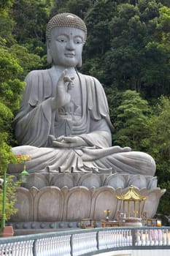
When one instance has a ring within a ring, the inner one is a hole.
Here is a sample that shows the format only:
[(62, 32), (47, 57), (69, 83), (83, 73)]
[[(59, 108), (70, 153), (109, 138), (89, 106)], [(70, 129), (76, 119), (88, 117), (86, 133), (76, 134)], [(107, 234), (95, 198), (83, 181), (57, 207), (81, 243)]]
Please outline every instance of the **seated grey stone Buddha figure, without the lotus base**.
[[(112, 146), (112, 124), (101, 83), (82, 75), (82, 48), (87, 29), (71, 13), (47, 24), (50, 69), (26, 76), (26, 89), (15, 117), (14, 154), (28, 154), (30, 173), (95, 172), (154, 176), (155, 161), (131, 148)], [(10, 168), (9, 168), (10, 169)], [(9, 170), (10, 172), (10, 170)]]

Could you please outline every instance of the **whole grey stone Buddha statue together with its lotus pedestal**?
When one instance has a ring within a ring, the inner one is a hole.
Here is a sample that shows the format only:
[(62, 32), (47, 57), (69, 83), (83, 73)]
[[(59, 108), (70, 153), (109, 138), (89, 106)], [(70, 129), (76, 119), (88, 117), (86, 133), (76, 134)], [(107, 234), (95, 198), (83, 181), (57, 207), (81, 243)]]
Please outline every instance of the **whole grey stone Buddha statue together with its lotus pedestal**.
[[(79, 227), (82, 218), (103, 219), (108, 208), (113, 219), (124, 211), (117, 196), (131, 185), (147, 198), (142, 214), (151, 218), (165, 192), (157, 187), (150, 155), (112, 146), (104, 89), (96, 78), (77, 71), (86, 37), (85, 23), (76, 15), (55, 15), (47, 24), (52, 67), (26, 76), (14, 120), (20, 146), (12, 151), (31, 159), (26, 162), (28, 182), (16, 192), (18, 212), (10, 220), (15, 232)], [(23, 163), (9, 165), (8, 173), (18, 179), (21, 170)], [(132, 202), (131, 212), (133, 207)]]

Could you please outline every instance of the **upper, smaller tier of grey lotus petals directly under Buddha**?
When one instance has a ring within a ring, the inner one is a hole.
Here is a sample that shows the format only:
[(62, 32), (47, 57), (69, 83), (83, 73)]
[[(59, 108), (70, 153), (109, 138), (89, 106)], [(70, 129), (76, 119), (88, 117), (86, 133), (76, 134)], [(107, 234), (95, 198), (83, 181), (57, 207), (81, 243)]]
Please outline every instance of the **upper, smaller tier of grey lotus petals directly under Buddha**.
[[(19, 179), (18, 173), (12, 173)], [(43, 187), (53, 186), (62, 189), (63, 187), (113, 187), (114, 189), (130, 187), (139, 189), (153, 189), (157, 187), (157, 178), (153, 176), (134, 175), (128, 173), (30, 173), (28, 182), (24, 187), (31, 189), (42, 189)]]

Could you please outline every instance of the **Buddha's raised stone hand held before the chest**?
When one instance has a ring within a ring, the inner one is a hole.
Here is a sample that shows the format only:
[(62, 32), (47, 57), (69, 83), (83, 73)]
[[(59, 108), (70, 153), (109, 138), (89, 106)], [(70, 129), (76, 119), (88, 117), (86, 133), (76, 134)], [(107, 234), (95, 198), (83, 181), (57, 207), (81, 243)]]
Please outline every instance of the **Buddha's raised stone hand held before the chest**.
[(67, 69), (62, 72), (60, 78), (58, 79), (56, 94), (55, 97), (52, 98), (53, 110), (55, 110), (56, 108), (61, 108), (70, 102), (71, 96), (69, 94), (69, 90), (71, 90), (74, 86), (74, 84), (72, 83), (72, 80), (74, 78), (69, 78), (66, 73)]

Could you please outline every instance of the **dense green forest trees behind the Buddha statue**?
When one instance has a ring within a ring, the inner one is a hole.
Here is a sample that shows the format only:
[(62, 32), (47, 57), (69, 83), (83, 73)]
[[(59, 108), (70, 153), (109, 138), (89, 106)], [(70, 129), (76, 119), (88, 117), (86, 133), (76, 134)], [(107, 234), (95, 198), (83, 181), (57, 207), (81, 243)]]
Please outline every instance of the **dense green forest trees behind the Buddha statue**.
[(23, 80), (32, 69), (48, 68), (45, 29), (59, 12), (85, 20), (80, 72), (104, 86), (115, 127), (112, 144), (154, 157), (158, 187), (166, 189), (158, 212), (169, 215), (169, 0), (0, 0), (0, 173), (15, 162), (12, 119)]

